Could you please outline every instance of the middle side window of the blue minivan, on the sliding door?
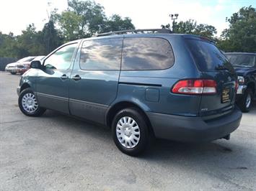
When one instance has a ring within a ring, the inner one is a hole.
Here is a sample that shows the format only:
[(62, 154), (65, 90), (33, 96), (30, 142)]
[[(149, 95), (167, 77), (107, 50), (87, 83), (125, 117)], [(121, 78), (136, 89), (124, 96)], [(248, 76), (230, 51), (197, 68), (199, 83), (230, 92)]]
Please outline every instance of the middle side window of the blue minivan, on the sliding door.
[(123, 39), (94, 39), (81, 47), (81, 70), (120, 70)]

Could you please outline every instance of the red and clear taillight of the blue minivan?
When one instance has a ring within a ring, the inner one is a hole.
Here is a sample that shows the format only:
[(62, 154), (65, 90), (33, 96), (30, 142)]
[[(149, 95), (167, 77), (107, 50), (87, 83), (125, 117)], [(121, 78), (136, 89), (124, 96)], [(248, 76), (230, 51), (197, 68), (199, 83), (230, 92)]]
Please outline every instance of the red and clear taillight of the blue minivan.
[(172, 88), (172, 93), (212, 94), (216, 93), (215, 80), (180, 80)]

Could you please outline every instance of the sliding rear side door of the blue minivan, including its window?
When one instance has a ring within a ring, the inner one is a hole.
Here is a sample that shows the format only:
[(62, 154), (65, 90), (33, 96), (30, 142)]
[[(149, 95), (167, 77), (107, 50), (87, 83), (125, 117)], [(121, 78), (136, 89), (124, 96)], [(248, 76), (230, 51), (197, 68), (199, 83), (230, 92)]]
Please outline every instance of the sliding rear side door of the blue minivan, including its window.
[(122, 46), (120, 37), (82, 43), (70, 80), (72, 115), (104, 124), (105, 111), (117, 95)]

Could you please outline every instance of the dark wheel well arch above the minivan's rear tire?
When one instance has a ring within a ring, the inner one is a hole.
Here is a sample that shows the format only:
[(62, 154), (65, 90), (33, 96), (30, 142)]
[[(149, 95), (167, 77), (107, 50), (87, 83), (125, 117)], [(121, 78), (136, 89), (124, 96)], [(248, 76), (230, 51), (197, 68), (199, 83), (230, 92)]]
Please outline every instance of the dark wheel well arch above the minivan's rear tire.
[(146, 116), (146, 113), (143, 109), (141, 109), (139, 106), (137, 106), (135, 103), (131, 103), (128, 101), (123, 101), (120, 103), (116, 103), (112, 108), (110, 108), (110, 111), (107, 112), (107, 126), (111, 128), (112, 120), (115, 117), (115, 114), (118, 113), (118, 111), (122, 110), (123, 108), (136, 108), (142, 116), (144, 116), (146, 120), (146, 124), (149, 127), (150, 133), (154, 135), (154, 130), (152, 129), (151, 123), (149, 121), (148, 116)]

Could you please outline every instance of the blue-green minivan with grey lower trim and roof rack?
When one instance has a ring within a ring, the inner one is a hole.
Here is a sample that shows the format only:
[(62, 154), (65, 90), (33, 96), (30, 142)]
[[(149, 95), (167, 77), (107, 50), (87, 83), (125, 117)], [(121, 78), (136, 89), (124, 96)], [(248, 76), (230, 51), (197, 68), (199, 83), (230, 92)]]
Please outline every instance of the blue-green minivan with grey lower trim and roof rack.
[(229, 139), (242, 117), (234, 68), (208, 39), (164, 32), (111, 32), (58, 47), (22, 76), (20, 110), (40, 116), (48, 108), (109, 126), (130, 155), (151, 137)]

